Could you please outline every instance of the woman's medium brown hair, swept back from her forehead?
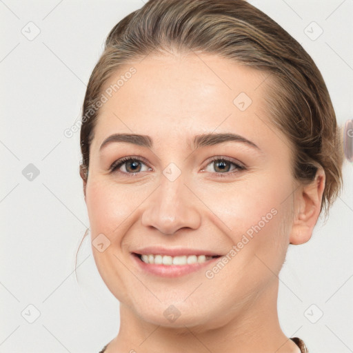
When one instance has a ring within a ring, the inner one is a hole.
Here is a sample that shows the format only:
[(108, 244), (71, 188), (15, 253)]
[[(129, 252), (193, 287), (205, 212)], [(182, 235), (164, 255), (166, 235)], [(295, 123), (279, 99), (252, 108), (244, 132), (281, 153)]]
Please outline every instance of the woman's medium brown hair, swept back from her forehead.
[(90, 144), (103, 85), (122, 65), (150, 52), (216, 54), (268, 74), (265, 100), (272, 124), (292, 147), (294, 179), (325, 171), (321, 210), (342, 187), (341, 132), (321, 72), (278, 23), (243, 0), (150, 0), (117, 23), (88, 82), (81, 125), (80, 174), (87, 181)]

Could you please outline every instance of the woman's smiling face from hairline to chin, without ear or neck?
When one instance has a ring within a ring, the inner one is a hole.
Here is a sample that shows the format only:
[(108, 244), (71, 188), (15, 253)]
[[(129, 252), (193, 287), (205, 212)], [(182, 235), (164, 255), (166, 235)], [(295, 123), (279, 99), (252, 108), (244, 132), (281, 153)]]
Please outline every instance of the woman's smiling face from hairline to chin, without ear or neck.
[[(106, 83), (116, 92), (104, 93), (90, 147), (85, 201), (103, 281), (157, 325), (274, 310), (294, 180), (265, 107), (268, 74), (206, 54), (133, 67)], [(113, 134), (125, 137), (103, 143)]]

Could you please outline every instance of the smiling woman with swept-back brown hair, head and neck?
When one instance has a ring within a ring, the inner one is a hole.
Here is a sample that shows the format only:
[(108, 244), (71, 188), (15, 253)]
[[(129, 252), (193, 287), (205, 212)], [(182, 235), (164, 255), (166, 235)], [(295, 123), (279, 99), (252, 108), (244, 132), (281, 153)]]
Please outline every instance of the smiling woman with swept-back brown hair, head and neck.
[(277, 313), (289, 244), (342, 184), (323, 77), (242, 0), (151, 0), (117, 23), (83, 103), (94, 261), (120, 302), (101, 352), (307, 352)]

